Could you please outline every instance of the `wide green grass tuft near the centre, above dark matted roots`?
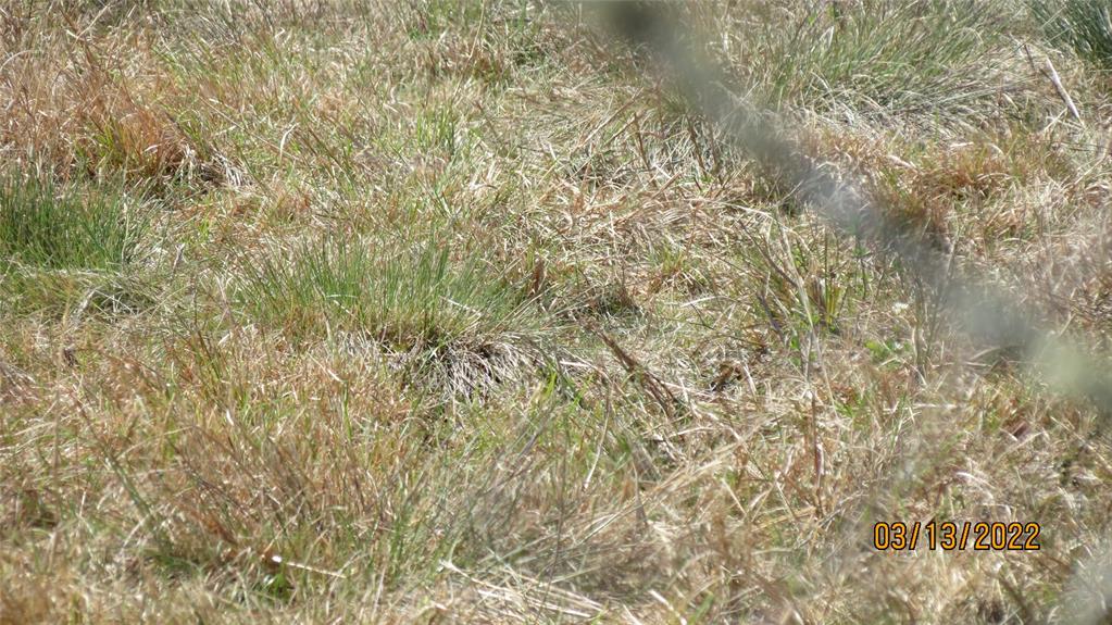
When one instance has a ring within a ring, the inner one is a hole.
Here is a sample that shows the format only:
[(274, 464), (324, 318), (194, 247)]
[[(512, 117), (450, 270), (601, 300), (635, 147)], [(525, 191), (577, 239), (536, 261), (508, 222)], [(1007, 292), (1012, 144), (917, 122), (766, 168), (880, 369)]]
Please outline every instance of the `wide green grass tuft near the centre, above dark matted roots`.
[(401, 351), (529, 325), (518, 292), (481, 258), (453, 261), (431, 240), (301, 244), (248, 262), (240, 298), (251, 317), (294, 338), (339, 330)]

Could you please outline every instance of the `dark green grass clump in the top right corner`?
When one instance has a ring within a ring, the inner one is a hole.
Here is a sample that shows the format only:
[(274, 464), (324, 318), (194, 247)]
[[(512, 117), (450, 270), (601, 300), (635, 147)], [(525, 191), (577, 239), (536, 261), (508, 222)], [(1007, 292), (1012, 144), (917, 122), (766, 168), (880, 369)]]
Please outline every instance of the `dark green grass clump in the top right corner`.
[(1112, 4), (1099, 0), (1029, 0), (1027, 6), (1052, 43), (1112, 69)]

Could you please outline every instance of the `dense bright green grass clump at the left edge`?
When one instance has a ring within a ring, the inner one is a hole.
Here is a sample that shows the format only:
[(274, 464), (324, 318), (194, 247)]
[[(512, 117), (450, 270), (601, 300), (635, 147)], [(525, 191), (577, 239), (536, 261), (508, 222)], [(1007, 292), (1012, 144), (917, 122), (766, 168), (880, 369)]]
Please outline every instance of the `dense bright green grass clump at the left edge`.
[(0, 256), (42, 269), (130, 262), (145, 228), (122, 197), (79, 194), (37, 177), (0, 178)]

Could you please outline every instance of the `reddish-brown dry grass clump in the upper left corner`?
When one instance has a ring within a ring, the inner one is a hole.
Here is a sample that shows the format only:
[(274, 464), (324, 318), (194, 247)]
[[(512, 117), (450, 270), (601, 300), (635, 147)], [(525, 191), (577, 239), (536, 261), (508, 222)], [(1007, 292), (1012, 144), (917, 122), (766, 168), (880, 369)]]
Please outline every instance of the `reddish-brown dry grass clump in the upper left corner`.
[(188, 92), (168, 81), (150, 47), (121, 53), (135, 36), (123, 26), (95, 43), (66, 37), (80, 11), (59, 9), (10, 16), (6, 43), (38, 53), (0, 66), (0, 98), (23, 102), (6, 109), (0, 149), (67, 177), (166, 182), (199, 172), (217, 180), (219, 159), (205, 137), (169, 112)]

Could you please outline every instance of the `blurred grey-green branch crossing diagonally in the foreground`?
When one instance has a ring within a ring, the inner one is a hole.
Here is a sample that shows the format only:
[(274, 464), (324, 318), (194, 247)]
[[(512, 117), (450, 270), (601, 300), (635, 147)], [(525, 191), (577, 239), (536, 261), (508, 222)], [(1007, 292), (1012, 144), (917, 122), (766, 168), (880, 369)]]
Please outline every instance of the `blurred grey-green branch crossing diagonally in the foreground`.
[(1000, 287), (955, 268), (950, 250), (893, 219), (860, 185), (804, 153), (775, 116), (731, 89), (731, 76), (699, 52), (695, 33), (679, 19), (675, 4), (612, 1), (589, 8), (613, 36), (652, 60), (652, 67), (683, 95), (694, 113), (718, 125), (725, 141), (785, 188), (794, 189), (803, 206), (846, 236), (895, 254), (905, 270), (937, 289), (944, 310), (967, 336), (992, 347), (1019, 349), (1055, 390), (1085, 397), (1102, 415), (1112, 415), (1112, 384), (1102, 359), (1053, 336), (1035, 321), (1036, 311)]

